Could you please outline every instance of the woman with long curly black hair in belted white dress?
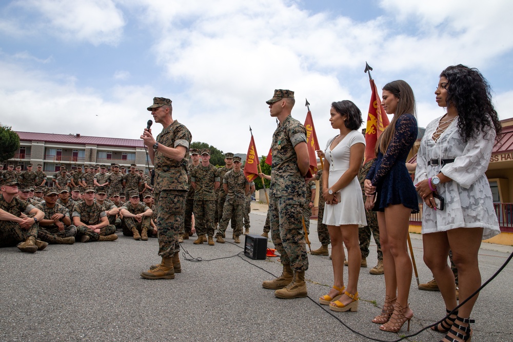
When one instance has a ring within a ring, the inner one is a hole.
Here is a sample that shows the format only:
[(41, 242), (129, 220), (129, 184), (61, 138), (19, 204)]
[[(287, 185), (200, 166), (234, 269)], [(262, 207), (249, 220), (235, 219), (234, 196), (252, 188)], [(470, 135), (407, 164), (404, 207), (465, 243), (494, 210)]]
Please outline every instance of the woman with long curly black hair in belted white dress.
[[(417, 154), (415, 182), (424, 199), (422, 239), (424, 261), (442, 293), (447, 313), (456, 306), (455, 279), (447, 256), (458, 269), (460, 299), (481, 286), (478, 251), (481, 240), (500, 233), (485, 171), (501, 124), (491, 104), (490, 88), (477, 69), (450, 66), (440, 74), (435, 91), (447, 113), (427, 127)], [(444, 209), (436, 209), (437, 196)], [(446, 332), (442, 341), (466, 341), (477, 295), (433, 330)]]

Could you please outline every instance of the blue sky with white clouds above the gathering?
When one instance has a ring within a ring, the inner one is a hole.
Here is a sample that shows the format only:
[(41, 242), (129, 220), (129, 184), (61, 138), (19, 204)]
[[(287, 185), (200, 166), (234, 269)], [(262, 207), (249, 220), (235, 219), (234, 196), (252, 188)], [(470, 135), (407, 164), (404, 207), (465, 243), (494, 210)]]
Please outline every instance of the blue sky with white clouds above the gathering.
[[(0, 3), (0, 122), (17, 131), (139, 138), (154, 96), (193, 141), (259, 155), (276, 127), (265, 101), (308, 99), (322, 148), (331, 102), (364, 120), (365, 62), (381, 87), (408, 82), (419, 126), (444, 112), (440, 72), (478, 68), (501, 119), (513, 117), (510, 0), (19, 0)], [(154, 125), (153, 131), (162, 129)]]

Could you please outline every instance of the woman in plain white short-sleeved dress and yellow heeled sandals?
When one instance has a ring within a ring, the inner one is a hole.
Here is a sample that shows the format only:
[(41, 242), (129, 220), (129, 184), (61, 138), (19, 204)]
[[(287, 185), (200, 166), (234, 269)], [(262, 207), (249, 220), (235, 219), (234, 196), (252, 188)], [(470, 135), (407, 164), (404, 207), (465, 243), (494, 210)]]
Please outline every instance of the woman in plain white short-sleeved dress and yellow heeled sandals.
[[(323, 167), (323, 189), (326, 206), (323, 223), (331, 239), (333, 287), (319, 298), (333, 311), (357, 311), (358, 276), (360, 275), (360, 242), (358, 228), (367, 225), (358, 170), (365, 153), (365, 138), (359, 132), (362, 113), (349, 100), (331, 104), (331, 127), (340, 134), (328, 140)], [(344, 245), (349, 260), (347, 288), (344, 287)]]

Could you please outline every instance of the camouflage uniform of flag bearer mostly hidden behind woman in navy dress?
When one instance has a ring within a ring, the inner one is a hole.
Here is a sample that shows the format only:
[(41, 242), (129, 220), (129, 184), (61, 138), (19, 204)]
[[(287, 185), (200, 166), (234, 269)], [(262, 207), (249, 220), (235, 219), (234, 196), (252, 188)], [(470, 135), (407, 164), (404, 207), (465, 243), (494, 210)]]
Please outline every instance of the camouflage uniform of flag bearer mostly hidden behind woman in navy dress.
[[(364, 189), (364, 181), (367, 173), (369, 172), (374, 160), (369, 160), (367, 163), (362, 165), (360, 171), (358, 171), (358, 180), (360, 182), (360, 186), (362, 187), (362, 195), (364, 202), (367, 200), (367, 196), (365, 196)], [(367, 226), (358, 229), (358, 238), (360, 240), (360, 251), (362, 252), (362, 259), (369, 256), (369, 246), (370, 246), (370, 233), (374, 236), (374, 241), (376, 242), (378, 248), (378, 260), (383, 260), (383, 252), (381, 251), (380, 244), (380, 230), (378, 227), (378, 216), (375, 211), (366, 210), (365, 214), (367, 216)]]

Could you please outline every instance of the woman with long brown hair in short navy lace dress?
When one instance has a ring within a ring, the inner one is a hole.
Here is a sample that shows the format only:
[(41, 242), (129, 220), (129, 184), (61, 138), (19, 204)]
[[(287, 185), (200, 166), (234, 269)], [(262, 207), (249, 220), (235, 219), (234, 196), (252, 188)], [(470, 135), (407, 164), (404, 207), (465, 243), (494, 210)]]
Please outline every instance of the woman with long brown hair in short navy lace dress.
[[(408, 307), (411, 259), (407, 251), (409, 217), (419, 211), (417, 193), (406, 169), (406, 157), (417, 139), (415, 97), (404, 81), (383, 87), (383, 108), (394, 114), (376, 144), (377, 158), (365, 179), (365, 208), (378, 212), (385, 271), (385, 303), (372, 321), (381, 330), (398, 332), (413, 317)], [(374, 202), (375, 201), (375, 202)]]

